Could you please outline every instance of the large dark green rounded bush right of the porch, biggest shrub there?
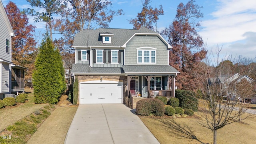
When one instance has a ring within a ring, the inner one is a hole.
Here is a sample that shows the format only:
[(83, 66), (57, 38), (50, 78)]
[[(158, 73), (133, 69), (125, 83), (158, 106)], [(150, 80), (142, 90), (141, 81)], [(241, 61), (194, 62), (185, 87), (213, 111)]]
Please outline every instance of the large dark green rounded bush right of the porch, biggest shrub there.
[(198, 100), (194, 97), (196, 94), (189, 90), (176, 90), (175, 96), (180, 100), (179, 107), (183, 109), (198, 110)]

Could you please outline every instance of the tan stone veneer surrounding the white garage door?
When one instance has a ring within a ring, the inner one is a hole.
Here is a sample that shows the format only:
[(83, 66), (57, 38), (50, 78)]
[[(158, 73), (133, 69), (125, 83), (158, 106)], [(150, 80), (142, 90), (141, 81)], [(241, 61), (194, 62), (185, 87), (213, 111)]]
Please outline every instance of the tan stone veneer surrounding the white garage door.
[[(78, 100), (80, 100), (80, 82), (100, 80), (101, 76), (77, 76), (78, 78)], [(125, 97), (127, 95), (127, 76), (102, 76), (102, 80), (112, 80), (112, 81), (121, 81), (123, 82), (123, 104), (125, 103)]]

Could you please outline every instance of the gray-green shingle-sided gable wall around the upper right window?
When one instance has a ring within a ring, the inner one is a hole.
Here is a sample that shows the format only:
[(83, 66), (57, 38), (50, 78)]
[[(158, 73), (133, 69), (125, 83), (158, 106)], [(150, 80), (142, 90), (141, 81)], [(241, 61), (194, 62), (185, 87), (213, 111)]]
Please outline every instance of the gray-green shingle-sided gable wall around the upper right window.
[(126, 44), (125, 65), (145, 65), (137, 64), (137, 48), (140, 47), (156, 48), (156, 64), (146, 65), (168, 65), (167, 46), (158, 36), (134, 36), (134, 38)]

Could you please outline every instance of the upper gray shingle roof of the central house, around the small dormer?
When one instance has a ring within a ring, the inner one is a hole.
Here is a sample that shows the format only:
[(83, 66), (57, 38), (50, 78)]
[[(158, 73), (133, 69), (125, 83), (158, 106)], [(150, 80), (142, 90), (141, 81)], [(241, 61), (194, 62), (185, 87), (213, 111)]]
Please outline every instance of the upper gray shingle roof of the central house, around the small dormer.
[[(100, 34), (114, 34), (111, 36), (111, 44), (102, 43)], [(126, 43), (136, 35), (153, 35), (158, 36), (168, 48), (171, 46), (164, 38), (155, 31), (142, 27), (139, 30), (134, 29), (118, 29), (118, 28), (98, 28), (96, 30), (83, 30), (74, 37), (73, 47), (88, 46), (112, 46), (126, 47)]]

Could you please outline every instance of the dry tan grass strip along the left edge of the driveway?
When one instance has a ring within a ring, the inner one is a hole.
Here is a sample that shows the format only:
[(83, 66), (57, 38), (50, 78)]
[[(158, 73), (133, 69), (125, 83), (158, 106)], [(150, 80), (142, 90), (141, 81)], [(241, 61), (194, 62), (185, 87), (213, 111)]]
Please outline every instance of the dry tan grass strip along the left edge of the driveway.
[(63, 144), (78, 106), (60, 107), (44, 121), (28, 144)]

